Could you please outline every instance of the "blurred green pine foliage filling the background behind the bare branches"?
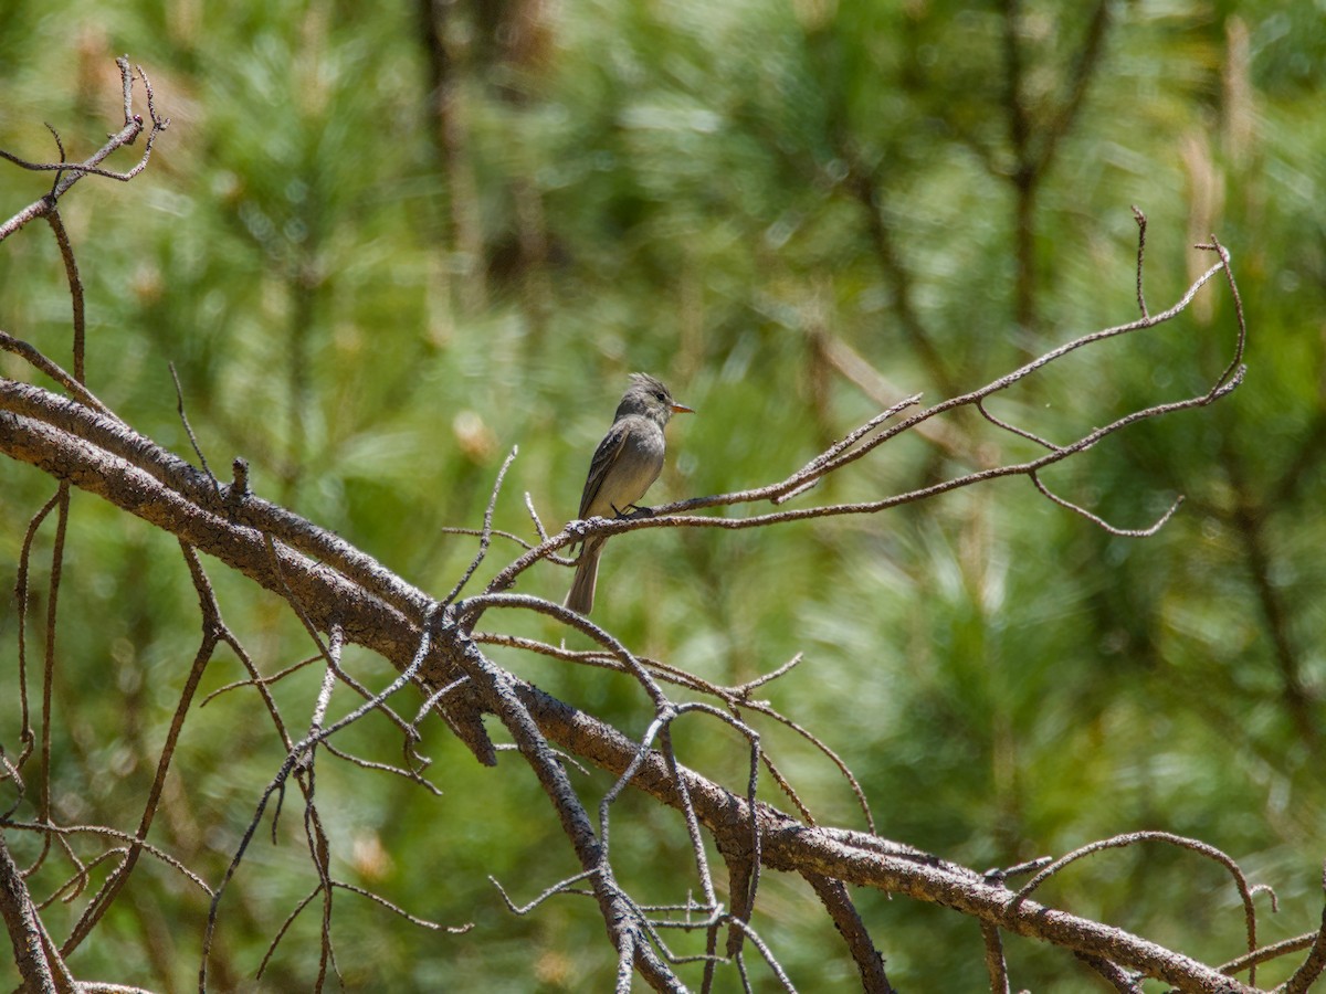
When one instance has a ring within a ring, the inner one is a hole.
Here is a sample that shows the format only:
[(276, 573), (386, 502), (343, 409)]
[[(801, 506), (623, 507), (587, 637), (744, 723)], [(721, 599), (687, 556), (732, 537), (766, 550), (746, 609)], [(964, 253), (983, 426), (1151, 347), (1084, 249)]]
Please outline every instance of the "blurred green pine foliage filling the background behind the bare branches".
[[(1249, 318), (1246, 384), (1215, 408), (1110, 439), (1049, 480), (1124, 527), (1184, 494), (1155, 538), (1110, 537), (1021, 480), (869, 518), (642, 531), (613, 543), (597, 618), (721, 683), (804, 652), (769, 697), (850, 763), (888, 838), (984, 868), (1168, 830), (1276, 888), (1265, 941), (1314, 928), (1326, 851), (1322, 5), (1139, 0), (1107, 4), (1093, 25), (1086, 5), (1029, 1), (1009, 32), (1006, 5), (945, 0), (440, 4), (450, 138), (428, 7), (0, 5), (0, 146), (53, 158), (42, 122), (73, 158), (99, 144), (117, 123), (123, 52), (172, 121), (143, 176), (86, 179), (64, 207), (88, 286), (93, 391), (191, 457), (174, 363), (213, 469), (244, 456), (260, 494), (442, 594), (473, 553), (442, 527), (479, 524), (512, 447), (497, 525), (530, 537), (525, 492), (550, 529), (570, 517), (633, 370), (700, 411), (672, 429), (656, 500), (752, 486), (880, 407), (825, 360), (826, 337), (898, 394), (937, 400), (1135, 315), (1130, 204), (1150, 217), (1152, 310), (1209, 265), (1189, 247), (1213, 231)], [(0, 175), (4, 216), (49, 182)], [(68, 355), (68, 292), (44, 231), (0, 250), (0, 327)], [(1229, 296), (1213, 286), (1172, 325), (1074, 357), (997, 410), (1075, 437), (1205, 390), (1232, 329)], [(9, 355), (0, 374), (33, 376)], [(1022, 452), (975, 421), (952, 429), (969, 455)], [(863, 500), (969, 465), (907, 441), (801, 501)], [(42, 474), (0, 464), (5, 588), (49, 492)], [(48, 526), (38, 547), (50, 542)], [(512, 551), (496, 547), (488, 573)], [(45, 563), (48, 551), (34, 561), (38, 587)], [(265, 672), (309, 653), (274, 598), (211, 573)], [(56, 816), (130, 830), (196, 647), (196, 603), (174, 541), (77, 493), (64, 583)], [(548, 567), (521, 588), (560, 599), (566, 583)], [(0, 742), (11, 751), (16, 627), (7, 596)], [(622, 679), (497, 655), (627, 730), (647, 721)], [(390, 680), (381, 660), (349, 661), (371, 685)], [(277, 687), (294, 726), (314, 671)], [(204, 689), (240, 676), (219, 659)], [(154, 828), (210, 880), (281, 759), (255, 700), (232, 692), (190, 720)], [(819, 754), (764, 730), (821, 822), (863, 827)], [(684, 762), (744, 782), (731, 734), (696, 722), (678, 738)], [(345, 747), (395, 761), (399, 736), (367, 722)], [(440, 726), (427, 728), (424, 751), (440, 798), (325, 759), (335, 869), (415, 914), (475, 928), (426, 932), (338, 895), (346, 987), (606, 989), (613, 956), (590, 901), (514, 917), (487, 880), (528, 900), (574, 869), (532, 777), (511, 758), (476, 769)], [(606, 786), (577, 782), (589, 799)], [(0, 806), (12, 797), (5, 785)], [(639, 799), (615, 819), (636, 895), (684, 900), (680, 823)], [(280, 844), (255, 846), (223, 903), (219, 989), (300, 990), (316, 975), (310, 909), (253, 979), (314, 885), (298, 823), (288, 798)], [(69, 872), (50, 863), (32, 881), (38, 895)], [(1045, 897), (1209, 962), (1240, 953), (1233, 885), (1188, 854), (1105, 854)], [(48, 909), (57, 937), (85, 900)], [(899, 989), (984, 985), (972, 922), (861, 901)], [(1258, 907), (1269, 912), (1265, 897)], [(73, 966), (187, 989), (204, 914), (178, 876), (141, 865)], [(841, 941), (796, 881), (765, 876), (756, 926), (800, 987), (853, 985)], [(1094, 989), (1058, 952), (1010, 940), (1009, 956), (1014, 985)], [(753, 975), (770, 989), (761, 966)], [(0, 986), (15, 983), (0, 967)]]

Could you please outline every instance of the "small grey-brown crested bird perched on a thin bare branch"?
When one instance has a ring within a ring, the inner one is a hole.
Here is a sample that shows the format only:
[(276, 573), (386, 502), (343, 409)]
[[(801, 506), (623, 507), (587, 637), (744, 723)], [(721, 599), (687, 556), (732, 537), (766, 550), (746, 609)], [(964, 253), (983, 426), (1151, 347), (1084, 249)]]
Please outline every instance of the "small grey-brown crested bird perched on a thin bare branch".
[[(581, 496), (579, 520), (621, 517), (644, 496), (663, 469), (663, 425), (674, 414), (695, 414), (672, 400), (668, 388), (644, 372), (631, 374), (631, 386), (617, 406), (613, 427), (594, 449)], [(566, 607), (587, 615), (594, 607), (598, 557), (606, 538), (585, 542)]]

